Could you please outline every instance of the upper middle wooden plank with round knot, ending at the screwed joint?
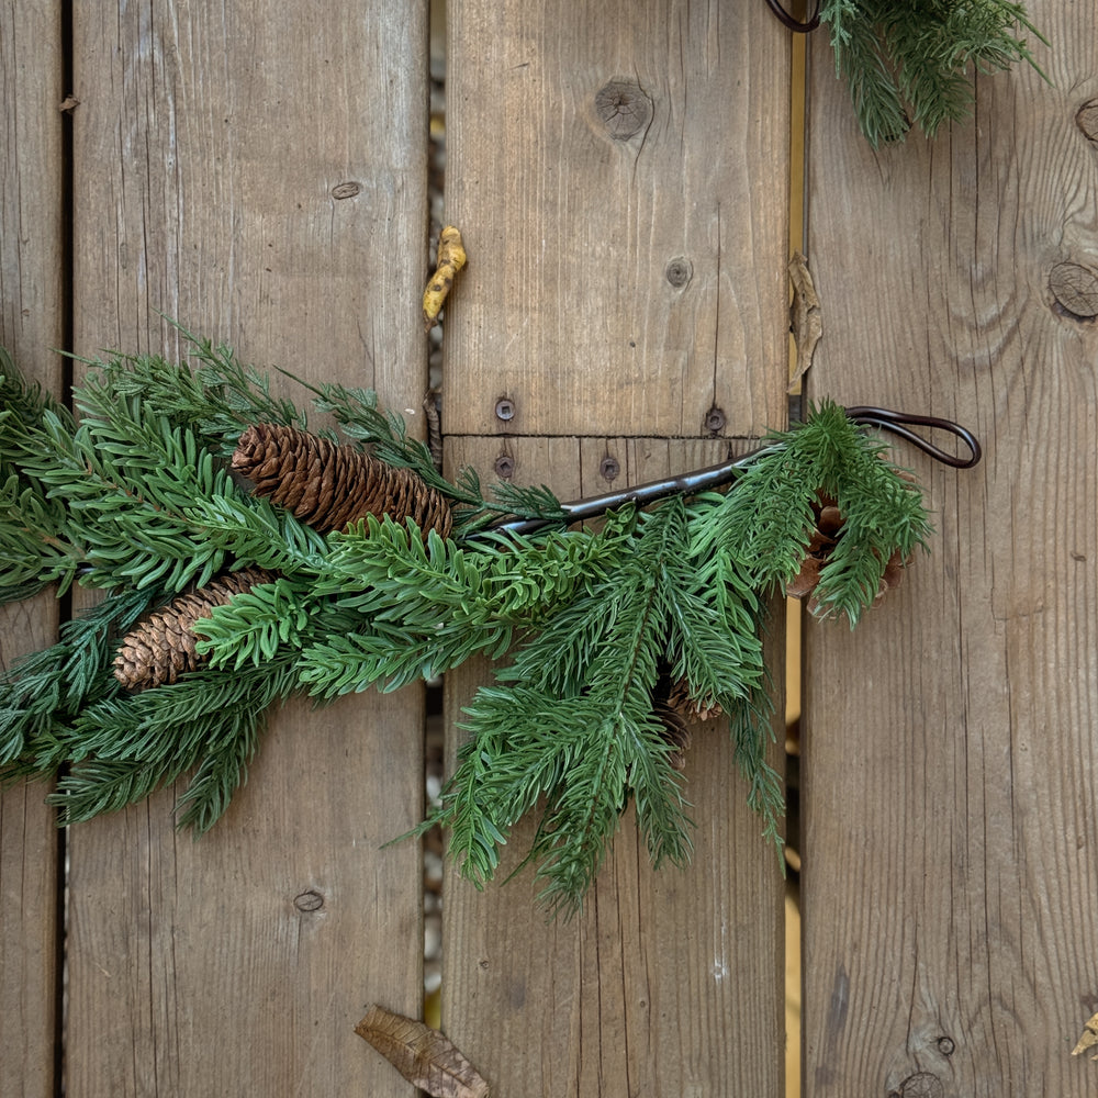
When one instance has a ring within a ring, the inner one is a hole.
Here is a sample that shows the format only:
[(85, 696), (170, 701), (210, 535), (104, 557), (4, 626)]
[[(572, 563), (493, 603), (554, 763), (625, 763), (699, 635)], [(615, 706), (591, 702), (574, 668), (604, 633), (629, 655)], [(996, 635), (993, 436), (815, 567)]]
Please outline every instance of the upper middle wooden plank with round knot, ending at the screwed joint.
[(448, 434), (783, 421), (789, 41), (742, 7), (449, 5)]

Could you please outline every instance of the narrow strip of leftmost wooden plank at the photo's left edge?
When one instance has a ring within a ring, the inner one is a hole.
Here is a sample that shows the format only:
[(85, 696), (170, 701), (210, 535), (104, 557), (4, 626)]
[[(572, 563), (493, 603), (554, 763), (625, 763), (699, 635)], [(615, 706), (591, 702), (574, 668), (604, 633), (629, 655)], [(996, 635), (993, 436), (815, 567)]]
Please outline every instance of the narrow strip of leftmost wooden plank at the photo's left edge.
[[(0, 11), (0, 345), (60, 394), (65, 343), (61, 23), (55, 4)], [(0, 607), (0, 670), (57, 639), (45, 592)], [(58, 833), (41, 785), (0, 793), (0, 1047), (7, 1093), (55, 1094)]]

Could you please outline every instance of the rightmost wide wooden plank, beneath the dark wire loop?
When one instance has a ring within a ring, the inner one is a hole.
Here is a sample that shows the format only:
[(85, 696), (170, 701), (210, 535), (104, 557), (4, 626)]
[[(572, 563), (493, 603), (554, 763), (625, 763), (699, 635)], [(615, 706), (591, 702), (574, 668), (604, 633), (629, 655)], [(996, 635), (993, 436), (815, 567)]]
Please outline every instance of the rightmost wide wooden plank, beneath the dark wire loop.
[(1098, 32), (1028, 7), (1051, 85), (981, 78), (972, 122), (876, 154), (815, 44), (810, 391), (955, 417), (985, 458), (904, 449), (931, 556), (854, 634), (807, 629), (814, 1096), (1095, 1087), (1069, 1052), (1098, 1009), (1098, 328), (1053, 287), (1075, 264), (1075, 312), (1098, 300)]

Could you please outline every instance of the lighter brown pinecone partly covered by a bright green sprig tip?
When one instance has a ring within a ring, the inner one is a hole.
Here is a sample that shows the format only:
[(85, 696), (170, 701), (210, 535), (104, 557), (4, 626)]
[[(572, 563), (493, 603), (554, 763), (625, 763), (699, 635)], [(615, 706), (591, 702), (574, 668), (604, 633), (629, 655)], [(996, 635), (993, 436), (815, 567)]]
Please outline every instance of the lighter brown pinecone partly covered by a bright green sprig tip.
[(122, 638), (114, 657), (114, 677), (126, 690), (143, 690), (173, 683), (184, 671), (194, 671), (204, 658), (195, 651), (198, 637), (191, 626), (199, 618), (210, 617), (215, 606), (224, 606), (233, 595), (274, 579), (274, 573), (265, 569), (245, 568), (211, 580), (198, 591), (177, 595)]

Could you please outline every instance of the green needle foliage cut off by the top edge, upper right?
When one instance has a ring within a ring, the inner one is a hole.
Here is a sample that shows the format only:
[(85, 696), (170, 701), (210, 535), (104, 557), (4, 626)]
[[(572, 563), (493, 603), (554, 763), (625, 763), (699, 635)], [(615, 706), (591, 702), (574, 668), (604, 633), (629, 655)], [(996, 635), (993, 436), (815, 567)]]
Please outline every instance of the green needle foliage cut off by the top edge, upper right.
[(967, 117), (970, 66), (994, 72), (1024, 60), (1040, 72), (1023, 32), (1047, 45), (1009, 0), (822, 0), (820, 22), (874, 147), (903, 141), (912, 122), (933, 137)]

